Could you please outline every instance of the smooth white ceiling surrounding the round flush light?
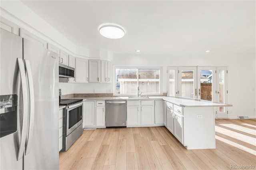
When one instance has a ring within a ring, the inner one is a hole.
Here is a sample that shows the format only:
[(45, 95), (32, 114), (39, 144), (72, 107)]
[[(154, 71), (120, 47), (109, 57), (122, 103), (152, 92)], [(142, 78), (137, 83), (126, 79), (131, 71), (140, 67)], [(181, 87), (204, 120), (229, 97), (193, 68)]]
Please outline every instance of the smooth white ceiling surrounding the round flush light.
[[(255, 1), (22, 1), (78, 46), (113, 53), (255, 55)], [(122, 26), (118, 40), (105, 23)]]

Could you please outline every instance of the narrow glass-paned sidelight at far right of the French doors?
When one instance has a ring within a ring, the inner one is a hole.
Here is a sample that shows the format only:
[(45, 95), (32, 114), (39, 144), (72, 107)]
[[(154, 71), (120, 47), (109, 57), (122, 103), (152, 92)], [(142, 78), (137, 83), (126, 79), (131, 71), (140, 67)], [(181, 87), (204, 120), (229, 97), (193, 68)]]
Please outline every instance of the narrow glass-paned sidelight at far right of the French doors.
[[(228, 103), (227, 67), (217, 68), (217, 102)], [(228, 118), (226, 107), (218, 107), (217, 118)]]

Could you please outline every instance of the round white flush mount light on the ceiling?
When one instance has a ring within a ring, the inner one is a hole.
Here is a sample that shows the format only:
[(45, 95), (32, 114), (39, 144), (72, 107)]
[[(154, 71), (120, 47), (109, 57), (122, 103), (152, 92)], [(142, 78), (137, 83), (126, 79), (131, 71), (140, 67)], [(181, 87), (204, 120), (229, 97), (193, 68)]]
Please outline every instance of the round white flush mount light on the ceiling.
[(102, 36), (110, 39), (118, 39), (124, 36), (124, 30), (119, 26), (106, 25), (99, 29)]

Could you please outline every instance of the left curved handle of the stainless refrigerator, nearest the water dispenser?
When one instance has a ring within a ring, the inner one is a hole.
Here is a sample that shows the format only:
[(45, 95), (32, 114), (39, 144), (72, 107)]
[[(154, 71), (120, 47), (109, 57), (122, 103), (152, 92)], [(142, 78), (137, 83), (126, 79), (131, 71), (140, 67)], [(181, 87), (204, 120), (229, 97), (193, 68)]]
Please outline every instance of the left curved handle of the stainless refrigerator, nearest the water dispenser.
[(26, 142), (26, 132), (27, 132), (27, 124), (28, 124), (28, 93), (27, 93), (27, 82), (26, 82), (26, 74), (24, 63), (21, 58), (17, 58), (18, 67), (20, 71), (21, 77), (21, 85), (22, 85), (22, 127), (21, 127), (21, 136), (20, 136), (20, 147), (17, 155), (17, 160), (20, 160), (24, 154), (25, 142)]

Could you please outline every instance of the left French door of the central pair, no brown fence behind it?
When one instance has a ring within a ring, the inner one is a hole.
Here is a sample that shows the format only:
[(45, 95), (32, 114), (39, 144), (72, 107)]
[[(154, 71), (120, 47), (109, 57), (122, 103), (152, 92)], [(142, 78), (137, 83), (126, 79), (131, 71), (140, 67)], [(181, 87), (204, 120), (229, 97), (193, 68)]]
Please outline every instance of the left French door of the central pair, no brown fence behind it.
[(197, 87), (197, 68), (179, 67), (178, 68), (178, 96), (196, 98)]

